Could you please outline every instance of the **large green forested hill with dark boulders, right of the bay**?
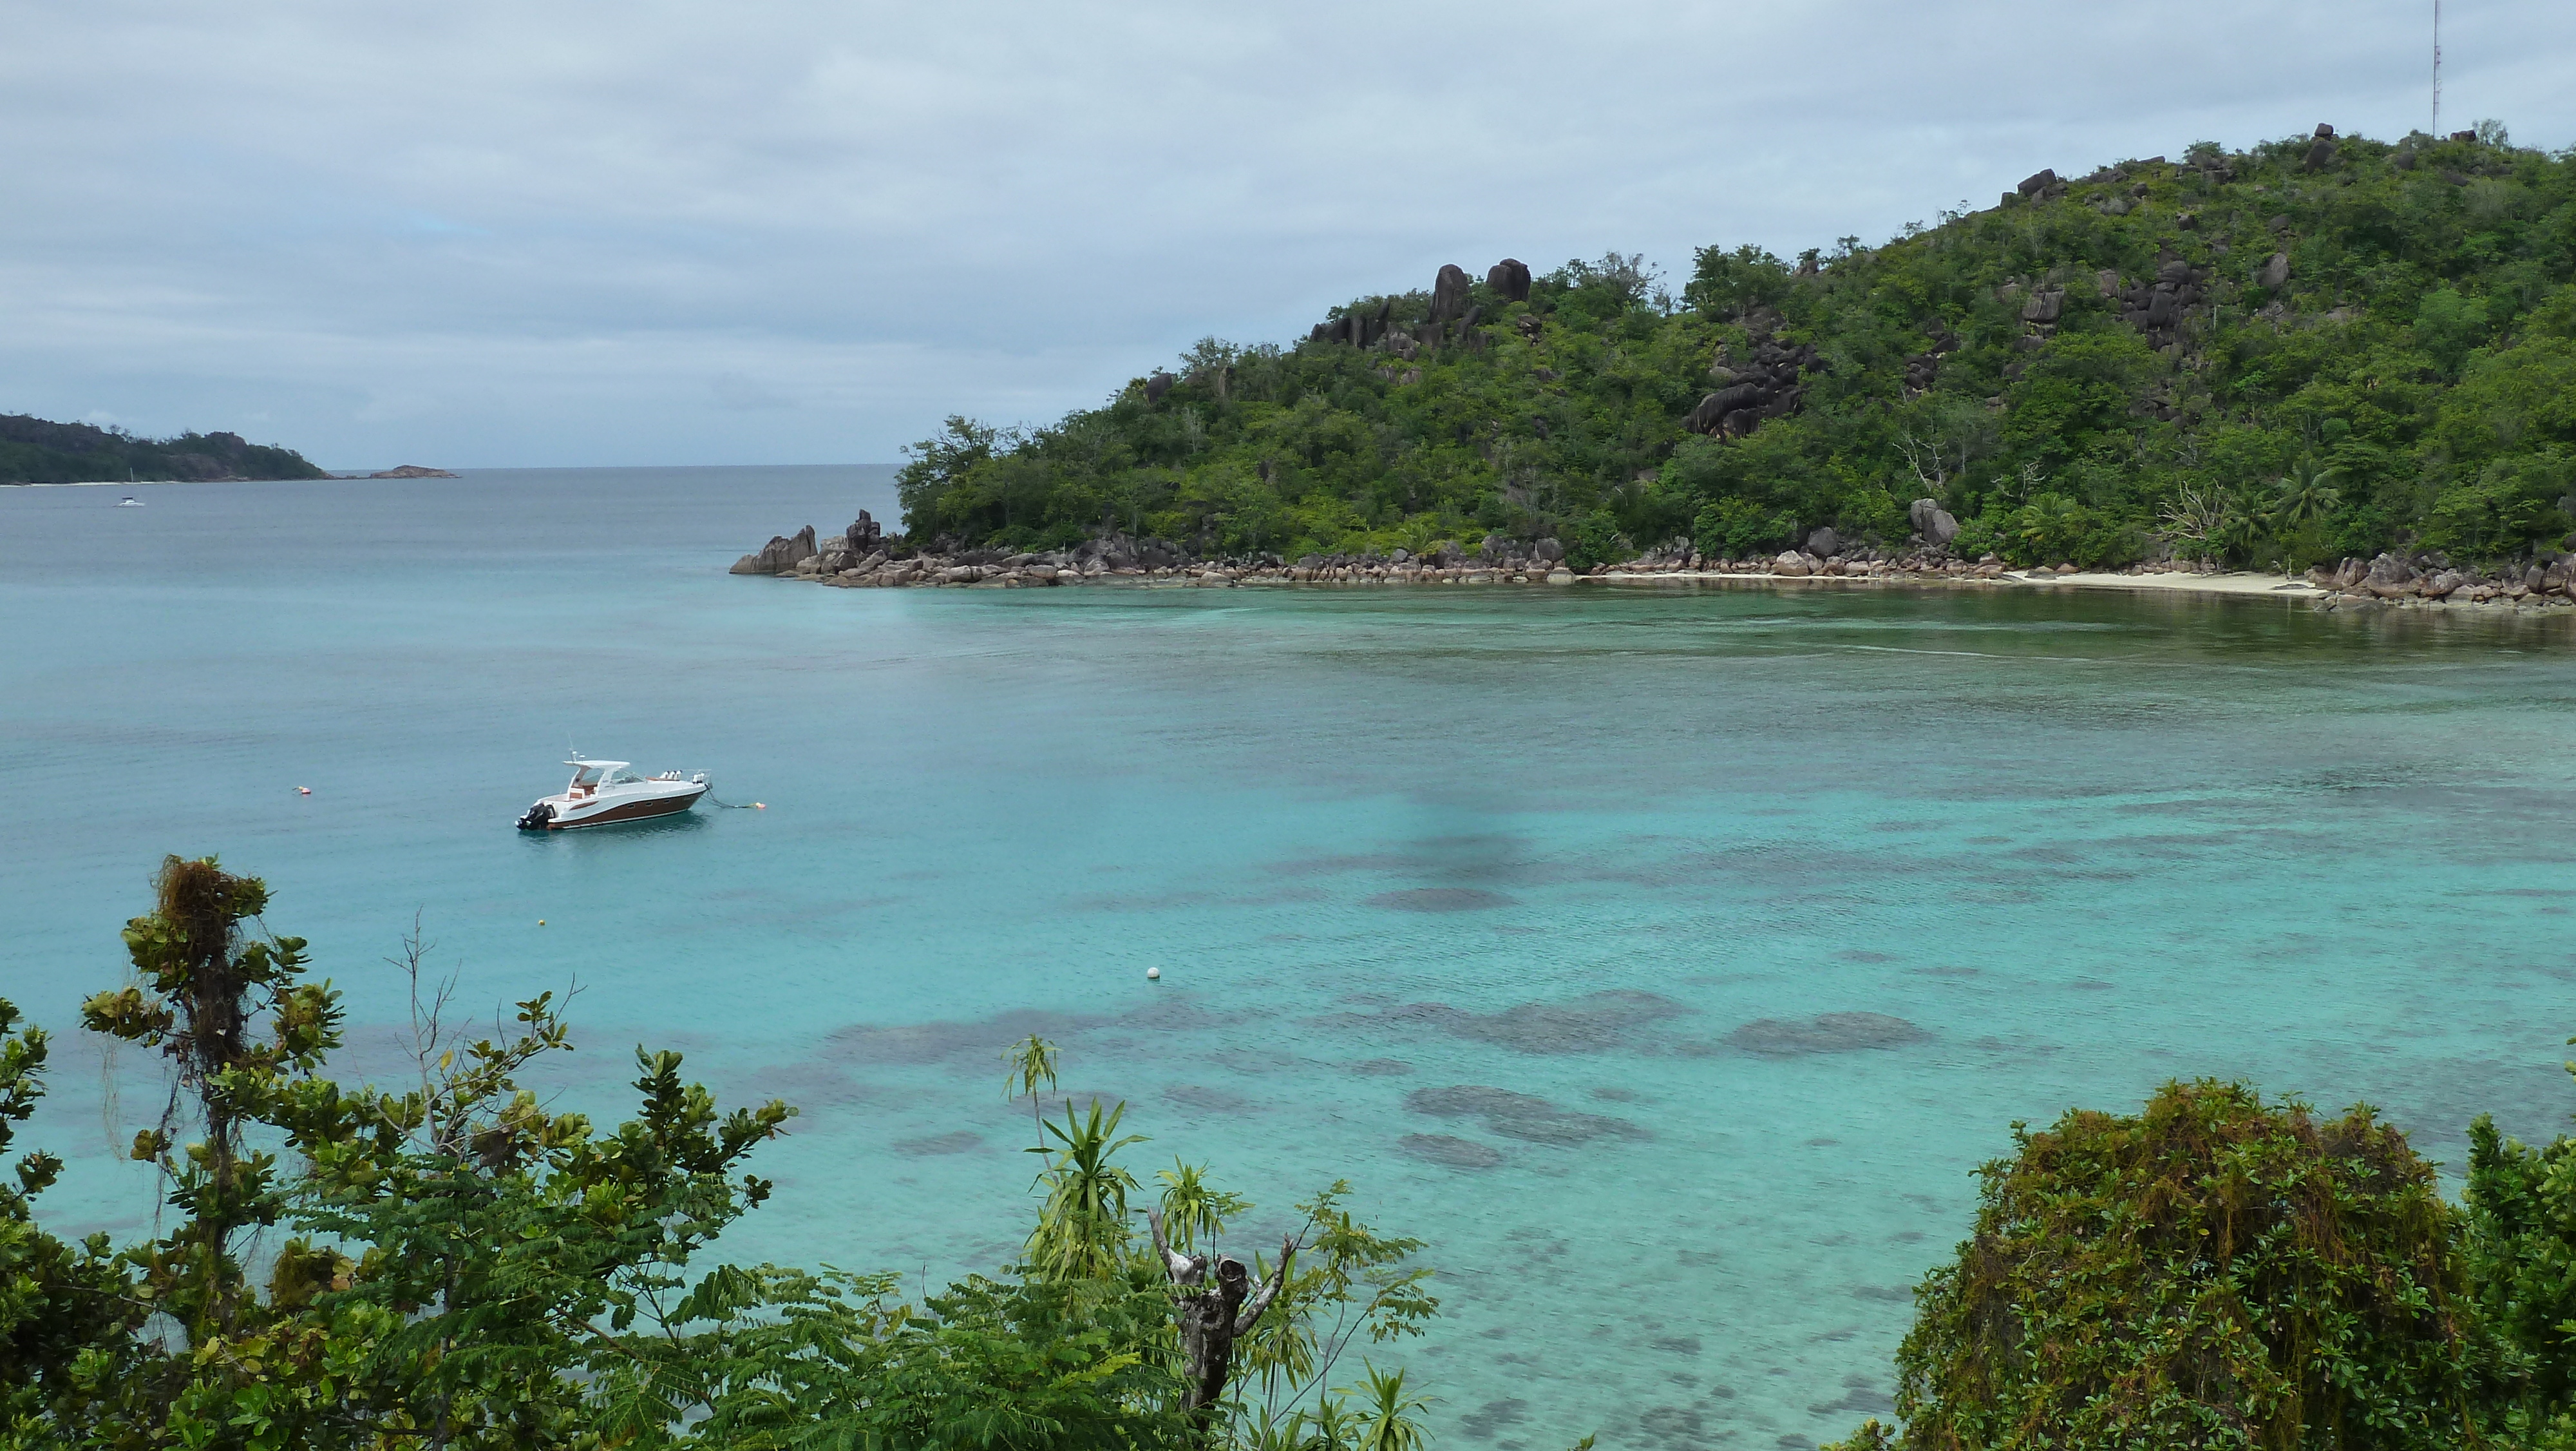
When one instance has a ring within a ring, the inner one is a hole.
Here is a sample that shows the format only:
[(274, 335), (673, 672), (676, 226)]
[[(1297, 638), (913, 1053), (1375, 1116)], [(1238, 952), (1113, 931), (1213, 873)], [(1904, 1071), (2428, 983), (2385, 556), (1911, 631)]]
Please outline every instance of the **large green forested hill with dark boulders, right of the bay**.
[(1955, 552), (2303, 567), (2576, 528), (2576, 160), (2447, 139), (2192, 144), (1901, 237), (1700, 247), (1363, 296), (1203, 340), (1061, 423), (909, 448), (917, 541), (1200, 554), (1556, 536), (1577, 567), (1834, 526)]

